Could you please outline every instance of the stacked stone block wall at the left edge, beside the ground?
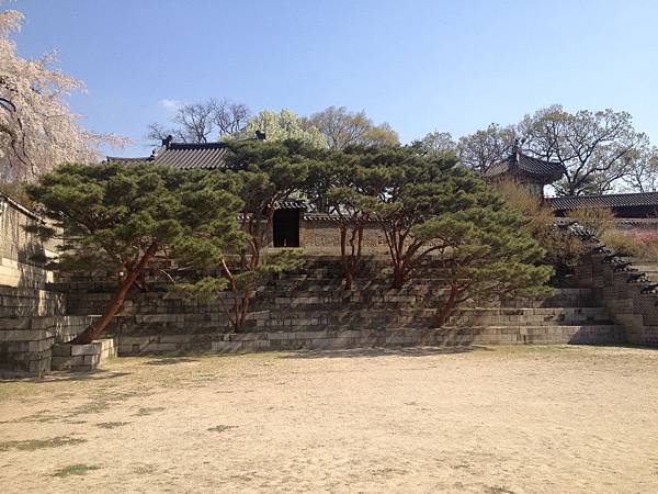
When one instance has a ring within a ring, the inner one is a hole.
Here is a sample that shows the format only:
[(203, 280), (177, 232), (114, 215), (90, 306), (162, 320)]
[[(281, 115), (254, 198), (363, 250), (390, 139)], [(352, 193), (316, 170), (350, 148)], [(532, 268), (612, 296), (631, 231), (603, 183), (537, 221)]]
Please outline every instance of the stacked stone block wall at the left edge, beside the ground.
[(44, 374), (50, 371), (52, 348), (82, 333), (87, 316), (0, 318), (0, 373)]

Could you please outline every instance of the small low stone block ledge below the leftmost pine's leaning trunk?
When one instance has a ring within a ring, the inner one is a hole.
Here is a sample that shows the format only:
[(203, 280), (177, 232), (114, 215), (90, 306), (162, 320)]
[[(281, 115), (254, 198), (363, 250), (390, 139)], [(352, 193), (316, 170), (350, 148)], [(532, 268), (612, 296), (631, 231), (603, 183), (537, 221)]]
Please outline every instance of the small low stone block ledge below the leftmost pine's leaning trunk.
[(113, 338), (98, 339), (88, 345), (55, 345), (52, 370), (90, 372), (114, 357), (116, 357), (116, 346)]

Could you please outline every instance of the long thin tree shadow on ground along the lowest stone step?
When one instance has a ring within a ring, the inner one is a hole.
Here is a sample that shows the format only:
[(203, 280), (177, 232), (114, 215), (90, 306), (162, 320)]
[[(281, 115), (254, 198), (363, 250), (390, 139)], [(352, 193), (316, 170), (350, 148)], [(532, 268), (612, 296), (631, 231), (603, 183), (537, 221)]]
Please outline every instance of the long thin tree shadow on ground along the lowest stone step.
[(494, 351), (481, 346), (464, 347), (407, 347), (407, 348), (351, 348), (344, 350), (295, 350), (282, 356), (284, 359), (327, 359), (355, 357), (429, 357), (433, 355), (469, 353), (472, 351)]

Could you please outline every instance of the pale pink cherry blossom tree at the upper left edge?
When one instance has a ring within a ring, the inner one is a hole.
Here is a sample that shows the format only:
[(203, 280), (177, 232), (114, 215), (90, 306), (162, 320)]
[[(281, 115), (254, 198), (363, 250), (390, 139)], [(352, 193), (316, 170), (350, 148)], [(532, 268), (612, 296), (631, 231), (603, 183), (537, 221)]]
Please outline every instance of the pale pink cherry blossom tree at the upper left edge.
[(55, 53), (37, 59), (16, 54), (11, 35), (22, 20), (16, 10), (0, 11), (0, 179), (5, 181), (34, 178), (59, 162), (94, 161), (99, 144), (125, 142), (78, 123), (66, 97), (83, 92), (84, 83), (53, 67)]

